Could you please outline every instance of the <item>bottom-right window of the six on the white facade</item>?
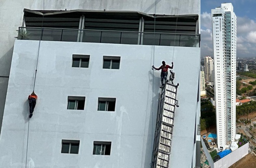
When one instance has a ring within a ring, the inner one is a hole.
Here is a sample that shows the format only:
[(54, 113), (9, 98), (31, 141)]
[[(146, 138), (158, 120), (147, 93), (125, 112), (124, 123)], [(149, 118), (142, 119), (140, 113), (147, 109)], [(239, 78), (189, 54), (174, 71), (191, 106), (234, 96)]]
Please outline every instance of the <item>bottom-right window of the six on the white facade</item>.
[(110, 155), (111, 142), (93, 142), (93, 155)]

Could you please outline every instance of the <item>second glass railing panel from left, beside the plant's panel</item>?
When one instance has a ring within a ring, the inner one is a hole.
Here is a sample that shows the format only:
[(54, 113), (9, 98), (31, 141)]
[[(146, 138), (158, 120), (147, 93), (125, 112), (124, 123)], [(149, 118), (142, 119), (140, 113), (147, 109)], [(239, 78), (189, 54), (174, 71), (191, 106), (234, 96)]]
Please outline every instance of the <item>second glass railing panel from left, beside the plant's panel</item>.
[(46, 41), (60, 41), (61, 40), (61, 31), (56, 29), (43, 29), (42, 40)]

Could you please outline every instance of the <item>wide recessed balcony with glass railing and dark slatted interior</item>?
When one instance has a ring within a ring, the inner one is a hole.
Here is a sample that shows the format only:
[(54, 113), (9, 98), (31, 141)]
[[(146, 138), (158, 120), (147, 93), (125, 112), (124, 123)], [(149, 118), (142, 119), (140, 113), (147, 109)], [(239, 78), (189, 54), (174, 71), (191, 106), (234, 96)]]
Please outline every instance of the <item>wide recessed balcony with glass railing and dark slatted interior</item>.
[(24, 9), (20, 40), (200, 47), (198, 15)]

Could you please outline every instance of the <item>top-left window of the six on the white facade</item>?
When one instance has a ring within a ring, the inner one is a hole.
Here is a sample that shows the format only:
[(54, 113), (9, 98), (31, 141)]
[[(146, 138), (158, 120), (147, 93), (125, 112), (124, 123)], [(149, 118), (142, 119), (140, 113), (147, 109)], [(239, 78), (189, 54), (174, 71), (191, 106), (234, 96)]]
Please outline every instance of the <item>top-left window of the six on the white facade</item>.
[(72, 67), (88, 68), (90, 55), (73, 54)]

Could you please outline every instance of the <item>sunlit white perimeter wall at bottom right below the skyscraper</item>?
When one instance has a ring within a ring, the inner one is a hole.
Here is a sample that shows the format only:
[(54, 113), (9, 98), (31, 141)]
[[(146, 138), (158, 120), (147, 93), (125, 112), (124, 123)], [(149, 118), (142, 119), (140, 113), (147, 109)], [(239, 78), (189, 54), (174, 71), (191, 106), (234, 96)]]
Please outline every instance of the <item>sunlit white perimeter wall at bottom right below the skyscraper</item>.
[(232, 164), (239, 161), (248, 154), (249, 142), (242, 147), (232, 151), (230, 154), (219, 159), (214, 163), (213, 168), (229, 168)]

